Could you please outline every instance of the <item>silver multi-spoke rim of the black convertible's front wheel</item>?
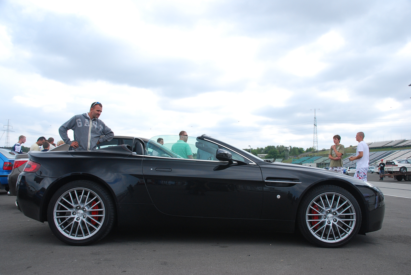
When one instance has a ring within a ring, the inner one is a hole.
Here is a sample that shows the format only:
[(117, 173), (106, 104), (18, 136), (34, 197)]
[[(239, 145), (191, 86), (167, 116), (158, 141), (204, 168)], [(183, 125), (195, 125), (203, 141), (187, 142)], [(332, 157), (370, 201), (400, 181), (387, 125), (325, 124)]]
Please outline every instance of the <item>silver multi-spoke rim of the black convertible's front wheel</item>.
[(337, 243), (353, 232), (356, 210), (342, 194), (326, 192), (309, 203), (305, 220), (314, 237), (325, 243)]

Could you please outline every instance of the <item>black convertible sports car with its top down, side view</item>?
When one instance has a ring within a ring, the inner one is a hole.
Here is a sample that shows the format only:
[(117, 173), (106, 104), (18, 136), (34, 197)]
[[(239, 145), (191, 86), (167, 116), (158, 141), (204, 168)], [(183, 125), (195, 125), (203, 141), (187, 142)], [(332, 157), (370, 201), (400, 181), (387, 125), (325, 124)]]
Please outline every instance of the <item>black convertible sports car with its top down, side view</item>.
[(298, 228), (321, 247), (381, 229), (385, 202), (374, 185), (265, 162), (208, 135), (178, 140), (156, 136), (92, 151), (30, 152), (18, 177), (18, 207), (48, 221), (70, 245), (100, 240), (116, 222), (131, 227), (142, 220)]

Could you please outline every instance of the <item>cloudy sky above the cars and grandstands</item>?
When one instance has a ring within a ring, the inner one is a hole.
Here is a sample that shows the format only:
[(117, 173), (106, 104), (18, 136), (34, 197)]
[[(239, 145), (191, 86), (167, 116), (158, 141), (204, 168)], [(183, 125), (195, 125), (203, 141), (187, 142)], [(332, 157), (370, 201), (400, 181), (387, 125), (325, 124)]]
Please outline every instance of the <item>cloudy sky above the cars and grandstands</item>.
[(406, 0), (0, 0), (0, 128), (11, 145), (60, 140), (99, 101), (116, 135), (308, 148), (316, 109), (320, 149), (411, 139), (410, 14)]

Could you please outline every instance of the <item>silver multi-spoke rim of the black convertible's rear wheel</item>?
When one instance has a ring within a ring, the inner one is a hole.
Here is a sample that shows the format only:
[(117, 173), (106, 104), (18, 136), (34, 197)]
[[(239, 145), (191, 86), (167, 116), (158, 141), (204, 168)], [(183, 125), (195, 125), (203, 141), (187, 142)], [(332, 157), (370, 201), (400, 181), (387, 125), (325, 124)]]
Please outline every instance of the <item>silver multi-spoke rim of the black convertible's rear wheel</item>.
[(74, 240), (90, 238), (97, 233), (105, 214), (100, 196), (87, 188), (73, 188), (62, 194), (53, 211), (57, 229)]

